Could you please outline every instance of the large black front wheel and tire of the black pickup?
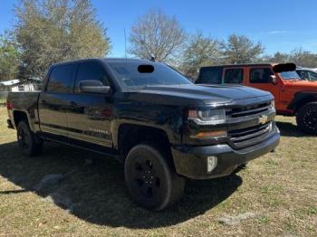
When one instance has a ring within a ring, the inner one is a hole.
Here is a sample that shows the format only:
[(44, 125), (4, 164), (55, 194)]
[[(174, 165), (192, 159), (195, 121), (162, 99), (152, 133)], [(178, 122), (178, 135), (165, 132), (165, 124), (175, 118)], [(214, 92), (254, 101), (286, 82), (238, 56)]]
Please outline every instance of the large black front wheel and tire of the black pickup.
[(184, 177), (168, 166), (158, 149), (148, 145), (130, 150), (125, 162), (125, 179), (134, 201), (149, 210), (167, 208), (184, 192)]

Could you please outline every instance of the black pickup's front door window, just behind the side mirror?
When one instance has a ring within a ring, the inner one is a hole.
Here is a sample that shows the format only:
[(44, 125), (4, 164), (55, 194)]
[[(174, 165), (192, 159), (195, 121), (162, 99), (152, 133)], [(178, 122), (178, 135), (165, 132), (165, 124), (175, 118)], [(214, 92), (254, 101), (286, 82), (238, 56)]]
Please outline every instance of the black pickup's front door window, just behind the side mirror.
[(103, 85), (109, 85), (105, 73), (95, 62), (82, 62), (79, 66), (76, 78), (75, 91), (79, 91), (81, 81), (96, 80), (101, 81)]

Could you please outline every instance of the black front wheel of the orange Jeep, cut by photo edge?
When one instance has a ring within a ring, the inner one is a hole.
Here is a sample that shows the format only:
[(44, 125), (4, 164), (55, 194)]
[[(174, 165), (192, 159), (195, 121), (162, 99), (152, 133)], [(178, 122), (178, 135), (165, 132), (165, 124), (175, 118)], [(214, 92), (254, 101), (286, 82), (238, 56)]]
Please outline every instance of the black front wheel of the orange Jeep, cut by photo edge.
[(309, 134), (317, 134), (317, 102), (304, 105), (297, 112), (297, 125)]

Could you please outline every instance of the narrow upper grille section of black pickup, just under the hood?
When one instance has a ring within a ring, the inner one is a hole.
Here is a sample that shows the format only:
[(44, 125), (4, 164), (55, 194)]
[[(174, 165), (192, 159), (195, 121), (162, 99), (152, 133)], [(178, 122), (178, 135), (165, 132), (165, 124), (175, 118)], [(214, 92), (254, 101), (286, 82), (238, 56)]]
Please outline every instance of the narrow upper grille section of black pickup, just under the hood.
[(240, 118), (250, 115), (261, 114), (270, 109), (271, 102), (265, 102), (261, 104), (248, 105), (244, 107), (228, 109), (226, 110), (226, 118)]

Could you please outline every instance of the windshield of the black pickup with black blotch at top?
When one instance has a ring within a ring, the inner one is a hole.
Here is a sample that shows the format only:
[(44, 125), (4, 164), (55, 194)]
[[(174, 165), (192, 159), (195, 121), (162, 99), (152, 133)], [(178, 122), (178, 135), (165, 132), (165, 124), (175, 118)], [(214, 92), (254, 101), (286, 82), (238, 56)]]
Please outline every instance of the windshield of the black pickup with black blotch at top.
[[(110, 69), (117, 80), (128, 89), (154, 85), (193, 84), (178, 71), (159, 62), (108, 62)], [(139, 69), (151, 67), (152, 71)]]

